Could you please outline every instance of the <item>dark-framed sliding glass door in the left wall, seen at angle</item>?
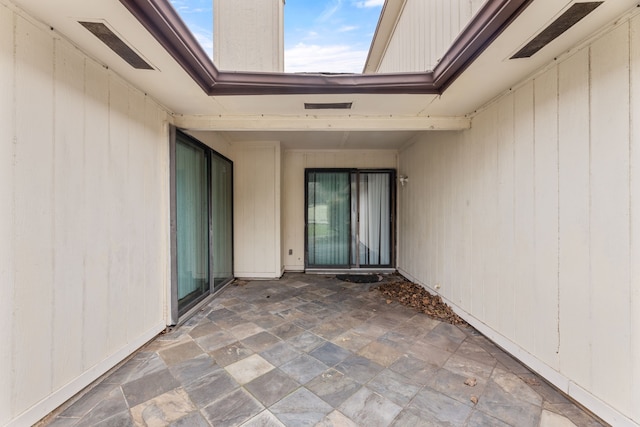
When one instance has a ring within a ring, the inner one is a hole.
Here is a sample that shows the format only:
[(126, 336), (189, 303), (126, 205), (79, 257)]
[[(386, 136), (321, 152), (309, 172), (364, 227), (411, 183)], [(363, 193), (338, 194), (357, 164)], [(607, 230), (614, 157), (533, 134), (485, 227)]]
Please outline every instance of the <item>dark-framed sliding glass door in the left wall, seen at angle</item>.
[(233, 165), (174, 130), (172, 321), (233, 279)]

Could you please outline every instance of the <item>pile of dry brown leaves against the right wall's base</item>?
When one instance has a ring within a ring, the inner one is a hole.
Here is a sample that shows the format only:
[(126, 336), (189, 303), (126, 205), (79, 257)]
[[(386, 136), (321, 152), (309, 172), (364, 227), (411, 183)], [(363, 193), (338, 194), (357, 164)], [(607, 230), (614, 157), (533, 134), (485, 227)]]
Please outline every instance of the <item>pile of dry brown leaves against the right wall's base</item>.
[(382, 295), (398, 301), (400, 304), (412, 307), (434, 319), (451, 323), (452, 325), (466, 325), (467, 323), (445, 304), (439, 295), (430, 294), (425, 288), (407, 280), (395, 280), (376, 288)]

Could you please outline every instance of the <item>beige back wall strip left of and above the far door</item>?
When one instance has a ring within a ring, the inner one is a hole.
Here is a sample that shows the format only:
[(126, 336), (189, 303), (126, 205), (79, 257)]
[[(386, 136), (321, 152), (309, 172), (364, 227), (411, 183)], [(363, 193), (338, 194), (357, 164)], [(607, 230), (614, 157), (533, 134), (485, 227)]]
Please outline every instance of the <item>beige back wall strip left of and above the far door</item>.
[[(304, 170), (306, 168), (396, 169), (395, 150), (285, 151), (282, 181), (282, 259), (288, 271), (304, 270)], [(292, 254), (289, 255), (289, 249)]]

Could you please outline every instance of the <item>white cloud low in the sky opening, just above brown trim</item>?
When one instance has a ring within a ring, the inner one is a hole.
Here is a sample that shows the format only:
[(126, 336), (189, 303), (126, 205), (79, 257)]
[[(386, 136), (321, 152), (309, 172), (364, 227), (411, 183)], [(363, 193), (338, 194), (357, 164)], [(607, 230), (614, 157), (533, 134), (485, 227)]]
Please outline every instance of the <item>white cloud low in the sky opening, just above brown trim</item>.
[(299, 43), (285, 52), (287, 73), (360, 73), (367, 59), (366, 50), (346, 45), (307, 45)]

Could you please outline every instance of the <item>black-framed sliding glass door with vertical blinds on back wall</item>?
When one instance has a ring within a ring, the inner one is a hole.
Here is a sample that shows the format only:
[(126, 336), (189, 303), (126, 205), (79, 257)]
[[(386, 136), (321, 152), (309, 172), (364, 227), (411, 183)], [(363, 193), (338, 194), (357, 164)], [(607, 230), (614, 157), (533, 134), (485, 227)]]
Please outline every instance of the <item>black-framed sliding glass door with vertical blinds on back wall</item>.
[(392, 267), (392, 170), (308, 169), (307, 268)]

